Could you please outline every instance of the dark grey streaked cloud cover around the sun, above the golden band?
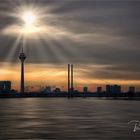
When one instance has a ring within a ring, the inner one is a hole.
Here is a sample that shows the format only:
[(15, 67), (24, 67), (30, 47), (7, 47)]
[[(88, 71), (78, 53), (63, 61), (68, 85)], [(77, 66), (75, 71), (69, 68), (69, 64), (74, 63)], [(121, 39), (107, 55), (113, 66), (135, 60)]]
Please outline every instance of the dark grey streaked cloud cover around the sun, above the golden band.
[[(110, 65), (96, 75), (140, 80), (140, 1), (25, 0), (25, 3), (46, 9), (43, 20), (62, 32), (58, 36), (53, 32), (50, 38), (44, 35), (27, 41), (28, 63)], [(19, 0), (0, 1), (1, 62), (17, 62), (19, 47), (8, 57), (16, 37), (2, 34), (2, 31), (15, 24), (16, 19), (10, 13), (22, 4)]]

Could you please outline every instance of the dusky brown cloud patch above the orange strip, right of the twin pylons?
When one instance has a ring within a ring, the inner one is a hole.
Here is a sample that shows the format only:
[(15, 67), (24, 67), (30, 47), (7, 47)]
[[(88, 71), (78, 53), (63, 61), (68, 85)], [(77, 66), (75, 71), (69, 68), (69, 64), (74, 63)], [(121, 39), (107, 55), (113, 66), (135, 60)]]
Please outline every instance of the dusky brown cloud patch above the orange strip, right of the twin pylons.
[[(88, 71), (83, 71), (82, 74), (89, 79), (117, 79), (117, 80), (139, 80), (140, 79), (140, 72), (133, 71), (132, 68), (129, 66), (124, 68), (119, 66), (106, 66), (106, 67), (99, 67), (90, 68)], [(130, 69), (129, 69), (130, 68)], [(86, 67), (85, 67), (86, 69)]]

